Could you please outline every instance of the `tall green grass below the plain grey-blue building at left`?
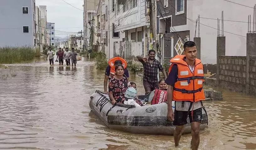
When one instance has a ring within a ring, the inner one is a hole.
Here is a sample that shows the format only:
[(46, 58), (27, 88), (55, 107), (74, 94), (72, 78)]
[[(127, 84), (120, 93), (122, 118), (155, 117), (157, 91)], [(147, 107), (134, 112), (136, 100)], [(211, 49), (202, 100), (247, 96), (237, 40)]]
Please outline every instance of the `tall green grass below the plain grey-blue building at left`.
[(27, 46), (0, 47), (0, 54), (0, 64), (22, 63), (33, 60), (34, 57), (38, 55), (38, 51), (36, 52), (33, 48)]

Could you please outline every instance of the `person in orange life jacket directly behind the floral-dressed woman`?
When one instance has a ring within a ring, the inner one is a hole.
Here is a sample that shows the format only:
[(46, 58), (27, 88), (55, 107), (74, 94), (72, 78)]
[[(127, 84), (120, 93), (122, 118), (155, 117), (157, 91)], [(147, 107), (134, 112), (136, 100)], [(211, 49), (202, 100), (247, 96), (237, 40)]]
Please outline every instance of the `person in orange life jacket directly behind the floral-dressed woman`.
[(126, 78), (129, 81), (129, 72), (127, 67), (127, 62), (125, 61), (125, 59), (120, 58), (120, 57), (114, 57), (109, 59), (109, 65), (106, 68), (105, 71), (105, 78), (104, 78), (104, 93), (107, 94), (107, 85), (108, 85), (108, 80), (109, 78), (112, 78), (115, 76), (115, 66), (116, 65), (123, 65), (124, 66), (124, 75), (126, 76)]

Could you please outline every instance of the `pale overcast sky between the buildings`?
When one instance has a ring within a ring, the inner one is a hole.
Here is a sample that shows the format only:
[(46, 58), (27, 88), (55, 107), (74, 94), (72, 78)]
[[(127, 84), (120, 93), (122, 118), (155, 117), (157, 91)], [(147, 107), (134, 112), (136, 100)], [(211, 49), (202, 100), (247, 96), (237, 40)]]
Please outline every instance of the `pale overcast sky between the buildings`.
[[(65, 1), (65, 2), (64, 2)], [(45, 5), (47, 22), (55, 23), (55, 37), (67, 37), (83, 30), (83, 0), (35, 0), (35, 5)], [(76, 7), (72, 7), (70, 5)], [(81, 10), (79, 10), (79, 9)], [(70, 33), (76, 32), (76, 33)], [(81, 34), (79, 34), (81, 35)]]

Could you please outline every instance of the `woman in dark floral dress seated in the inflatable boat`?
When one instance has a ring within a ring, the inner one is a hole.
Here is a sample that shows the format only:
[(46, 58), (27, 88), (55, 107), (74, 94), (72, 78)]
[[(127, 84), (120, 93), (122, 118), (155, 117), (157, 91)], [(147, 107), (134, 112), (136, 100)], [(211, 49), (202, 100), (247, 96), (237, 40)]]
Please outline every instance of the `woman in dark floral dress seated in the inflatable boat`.
[[(124, 103), (125, 91), (127, 90), (128, 80), (124, 75), (124, 67), (122, 65), (115, 66), (115, 76), (109, 80), (109, 98), (112, 104)], [(143, 103), (135, 98), (136, 103), (143, 105)]]

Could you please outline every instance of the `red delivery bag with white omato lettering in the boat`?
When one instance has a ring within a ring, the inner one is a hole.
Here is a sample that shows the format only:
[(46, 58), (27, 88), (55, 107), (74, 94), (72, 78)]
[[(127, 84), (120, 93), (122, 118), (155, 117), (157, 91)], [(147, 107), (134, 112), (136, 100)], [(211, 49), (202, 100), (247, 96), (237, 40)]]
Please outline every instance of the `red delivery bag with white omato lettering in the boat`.
[(160, 104), (167, 101), (167, 89), (155, 89), (154, 97), (151, 101), (151, 105)]

